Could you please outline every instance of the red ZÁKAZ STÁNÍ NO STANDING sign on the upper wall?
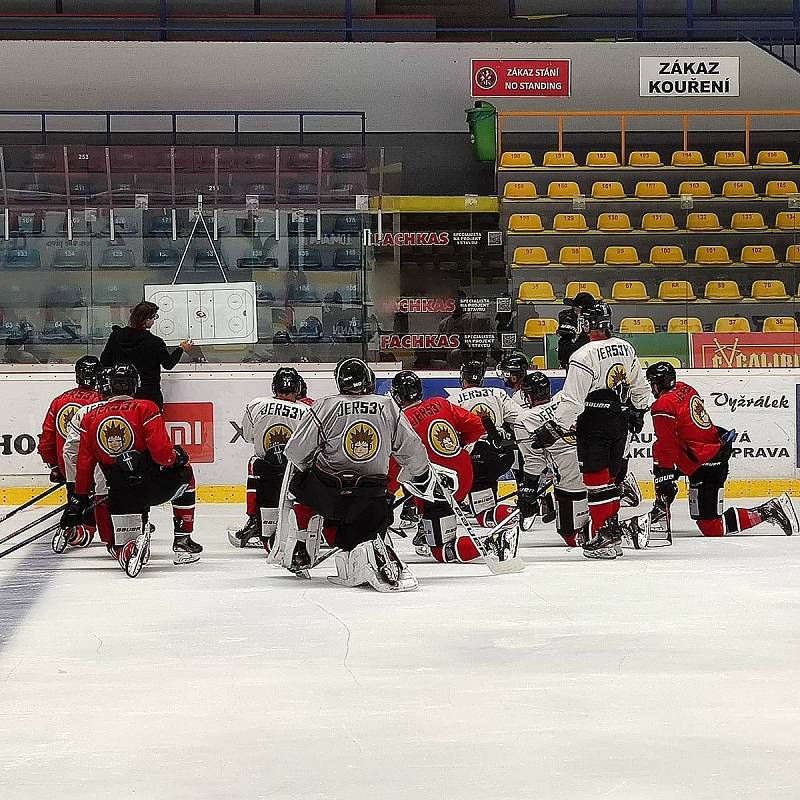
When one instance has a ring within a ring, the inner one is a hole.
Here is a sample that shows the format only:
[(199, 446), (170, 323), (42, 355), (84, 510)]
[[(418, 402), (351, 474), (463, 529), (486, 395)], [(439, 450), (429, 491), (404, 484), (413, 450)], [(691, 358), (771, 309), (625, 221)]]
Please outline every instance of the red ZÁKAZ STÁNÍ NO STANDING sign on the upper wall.
[(570, 60), (472, 59), (473, 97), (569, 97)]

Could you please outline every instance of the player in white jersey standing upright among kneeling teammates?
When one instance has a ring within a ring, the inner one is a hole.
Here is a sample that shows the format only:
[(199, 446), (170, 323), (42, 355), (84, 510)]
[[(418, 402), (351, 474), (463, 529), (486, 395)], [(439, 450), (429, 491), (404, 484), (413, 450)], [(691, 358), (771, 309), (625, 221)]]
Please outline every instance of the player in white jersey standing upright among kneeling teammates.
[(623, 529), (617, 513), (620, 491), (616, 482), (625, 455), (628, 431), (639, 433), (650, 407), (647, 380), (636, 350), (612, 335), (611, 309), (597, 301), (581, 314), (589, 342), (576, 350), (561, 391), (554, 418), (534, 434), (534, 444), (547, 447), (575, 430), (578, 461), (589, 492), (592, 540), (584, 547), (588, 558), (622, 555)]

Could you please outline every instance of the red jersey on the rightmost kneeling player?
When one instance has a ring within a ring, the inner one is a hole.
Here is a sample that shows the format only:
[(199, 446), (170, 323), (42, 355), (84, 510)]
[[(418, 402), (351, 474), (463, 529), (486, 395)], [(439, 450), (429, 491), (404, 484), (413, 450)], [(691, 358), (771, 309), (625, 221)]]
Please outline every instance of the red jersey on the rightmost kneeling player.
[(678, 381), (650, 408), (656, 441), (653, 459), (660, 467), (677, 467), (691, 475), (719, 452), (722, 440), (706, 412), (703, 398), (688, 383)]

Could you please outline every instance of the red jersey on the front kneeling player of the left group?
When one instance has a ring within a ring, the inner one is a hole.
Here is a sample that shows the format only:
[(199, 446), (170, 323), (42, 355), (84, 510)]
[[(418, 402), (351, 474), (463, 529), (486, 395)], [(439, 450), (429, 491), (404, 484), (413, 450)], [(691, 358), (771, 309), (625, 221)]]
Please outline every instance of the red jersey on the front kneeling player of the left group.
[(163, 467), (175, 462), (175, 448), (154, 402), (118, 397), (88, 411), (81, 423), (75, 492), (89, 494), (95, 465), (114, 464), (117, 456), (129, 450), (150, 453)]

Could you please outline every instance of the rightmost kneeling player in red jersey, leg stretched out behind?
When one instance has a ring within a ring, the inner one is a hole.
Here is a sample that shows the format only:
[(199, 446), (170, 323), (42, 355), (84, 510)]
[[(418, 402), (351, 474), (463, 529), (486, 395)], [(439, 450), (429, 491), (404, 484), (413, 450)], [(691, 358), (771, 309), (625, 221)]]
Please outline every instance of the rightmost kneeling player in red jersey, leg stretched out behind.
[(647, 368), (646, 378), (656, 398), (650, 408), (656, 433), (653, 524), (669, 520), (669, 507), (678, 493), (677, 479), (686, 475), (689, 514), (704, 536), (740, 533), (762, 522), (777, 525), (787, 536), (797, 532), (797, 514), (787, 494), (755, 508), (729, 508), (723, 512), (728, 462), (733, 450), (731, 432), (714, 425), (703, 399), (688, 383), (677, 379), (674, 367), (668, 362), (652, 364)]

